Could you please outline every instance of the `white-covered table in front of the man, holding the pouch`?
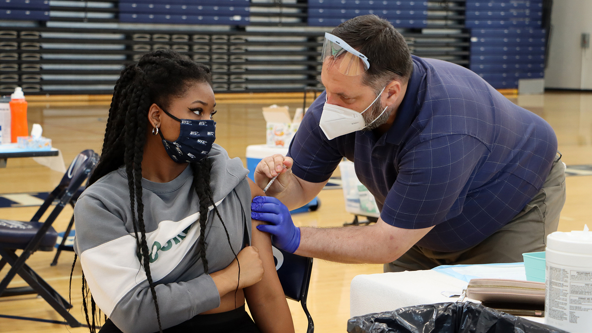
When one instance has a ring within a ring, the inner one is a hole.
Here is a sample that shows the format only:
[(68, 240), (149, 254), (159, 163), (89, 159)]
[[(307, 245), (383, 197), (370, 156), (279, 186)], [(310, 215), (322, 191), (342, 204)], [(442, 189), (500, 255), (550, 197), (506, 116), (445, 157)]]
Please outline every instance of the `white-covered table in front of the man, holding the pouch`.
[[(472, 267), (479, 271), (478, 274), (475, 273), (477, 277), (503, 277), (504, 269), (508, 271), (507, 268), (490, 265), (472, 265), (463, 267), (462, 271), (466, 273)], [(516, 278), (516, 274), (509, 275), (507, 278)], [(458, 297), (446, 297), (442, 292), (461, 294), (467, 284), (465, 280), (433, 270), (359, 275), (353, 278), (350, 285), (350, 317), (392, 311), (406, 306), (456, 302)], [(544, 323), (542, 317), (525, 318)]]

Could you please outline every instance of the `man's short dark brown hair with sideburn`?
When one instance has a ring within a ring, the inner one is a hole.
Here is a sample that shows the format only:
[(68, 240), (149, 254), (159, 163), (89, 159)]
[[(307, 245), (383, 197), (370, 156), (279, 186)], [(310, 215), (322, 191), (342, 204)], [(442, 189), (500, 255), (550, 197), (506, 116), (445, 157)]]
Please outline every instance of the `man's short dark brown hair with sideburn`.
[(403, 35), (377, 15), (363, 15), (338, 25), (331, 32), (368, 57), (370, 68), (363, 83), (380, 91), (393, 79), (406, 83), (413, 71), (411, 53)]

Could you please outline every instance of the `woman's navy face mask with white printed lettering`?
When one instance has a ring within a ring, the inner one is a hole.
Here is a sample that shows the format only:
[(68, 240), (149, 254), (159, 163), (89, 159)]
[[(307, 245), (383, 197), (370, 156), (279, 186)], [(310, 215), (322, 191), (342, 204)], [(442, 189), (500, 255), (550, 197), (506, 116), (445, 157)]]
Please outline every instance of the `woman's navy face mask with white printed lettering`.
[(207, 158), (214, 140), (216, 139), (216, 123), (214, 120), (178, 119), (165, 109), (162, 111), (181, 123), (179, 137), (170, 142), (159, 131), (165, 151), (177, 163), (199, 162)]

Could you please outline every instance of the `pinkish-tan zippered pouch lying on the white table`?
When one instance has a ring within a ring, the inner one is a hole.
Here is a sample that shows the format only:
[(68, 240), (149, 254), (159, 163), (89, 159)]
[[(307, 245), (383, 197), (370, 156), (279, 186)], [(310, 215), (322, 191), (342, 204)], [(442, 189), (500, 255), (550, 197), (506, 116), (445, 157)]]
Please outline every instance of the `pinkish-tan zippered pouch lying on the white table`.
[(545, 304), (545, 283), (503, 278), (473, 278), (466, 297), (481, 302)]

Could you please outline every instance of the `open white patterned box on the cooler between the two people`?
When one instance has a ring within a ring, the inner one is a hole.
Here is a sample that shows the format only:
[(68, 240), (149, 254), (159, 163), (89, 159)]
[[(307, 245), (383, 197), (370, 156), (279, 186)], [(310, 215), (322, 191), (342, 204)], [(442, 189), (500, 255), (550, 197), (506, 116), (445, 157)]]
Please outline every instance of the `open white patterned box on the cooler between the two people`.
[(263, 118), (267, 121), (266, 143), (270, 147), (288, 147), (300, 126), (304, 111), (296, 110), (294, 119), (290, 119), (288, 107), (271, 105), (263, 108)]

